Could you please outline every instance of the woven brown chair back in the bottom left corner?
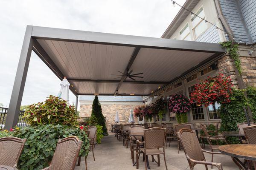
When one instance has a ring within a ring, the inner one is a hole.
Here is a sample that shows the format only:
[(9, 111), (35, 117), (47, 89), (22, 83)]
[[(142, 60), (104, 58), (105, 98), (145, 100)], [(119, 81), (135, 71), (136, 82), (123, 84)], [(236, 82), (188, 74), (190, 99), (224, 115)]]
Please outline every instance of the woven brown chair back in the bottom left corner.
[(16, 137), (0, 138), (0, 164), (17, 167), (26, 139)]

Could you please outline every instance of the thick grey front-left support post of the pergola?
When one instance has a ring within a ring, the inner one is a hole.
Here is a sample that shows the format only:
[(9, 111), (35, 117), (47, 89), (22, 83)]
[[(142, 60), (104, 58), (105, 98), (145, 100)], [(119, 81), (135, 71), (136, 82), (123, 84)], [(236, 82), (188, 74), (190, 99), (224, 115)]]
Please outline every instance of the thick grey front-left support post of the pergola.
[(26, 27), (25, 37), (20, 52), (20, 60), (17, 67), (16, 77), (12, 89), (12, 96), (4, 126), (4, 128), (7, 130), (16, 126), (20, 114), (20, 104), (23, 96), (33, 45), (33, 40), (31, 38), (32, 29), (33, 26)]

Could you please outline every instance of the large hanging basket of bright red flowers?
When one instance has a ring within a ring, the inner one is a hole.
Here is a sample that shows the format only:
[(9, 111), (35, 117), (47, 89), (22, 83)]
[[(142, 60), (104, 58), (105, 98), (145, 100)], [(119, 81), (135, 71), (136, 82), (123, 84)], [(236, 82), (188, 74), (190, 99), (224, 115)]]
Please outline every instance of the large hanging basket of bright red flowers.
[(191, 102), (197, 102), (206, 107), (215, 102), (228, 103), (232, 94), (231, 87), (230, 77), (224, 77), (223, 74), (218, 74), (217, 77), (207, 77), (195, 86), (195, 91), (191, 94)]

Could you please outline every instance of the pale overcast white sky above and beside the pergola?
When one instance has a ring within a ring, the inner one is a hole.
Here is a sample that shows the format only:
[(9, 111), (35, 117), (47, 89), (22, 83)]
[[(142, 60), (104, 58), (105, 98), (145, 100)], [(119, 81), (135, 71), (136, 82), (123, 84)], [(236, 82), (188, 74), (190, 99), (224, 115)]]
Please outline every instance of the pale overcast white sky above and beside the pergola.
[[(26, 25), (161, 37), (179, 10), (171, 0), (0, 0), (0, 103), (9, 106)], [(57, 95), (60, 82), (32, 52), (21, 105)]]

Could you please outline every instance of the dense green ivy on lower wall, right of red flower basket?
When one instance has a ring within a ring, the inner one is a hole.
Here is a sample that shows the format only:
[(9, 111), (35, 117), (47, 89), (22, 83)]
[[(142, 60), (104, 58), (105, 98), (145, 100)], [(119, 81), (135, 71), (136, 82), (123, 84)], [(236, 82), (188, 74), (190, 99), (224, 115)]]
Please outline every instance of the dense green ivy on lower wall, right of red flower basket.
[[(248, 99), (244, 96), (244, 91), (247, 92)], [(236, 131), (238, 130), (237, 124), (247, 122), (244, 107), (253, 112), (253, 120), (256, 120), (256, 88), (248, 87), (244, 90), (233, 89), (233, 94), (230, 103), (221, 105), (221, 131)], [(227, 141), (230, 143), (239, 143), (238, 138), (229, 137)]]

